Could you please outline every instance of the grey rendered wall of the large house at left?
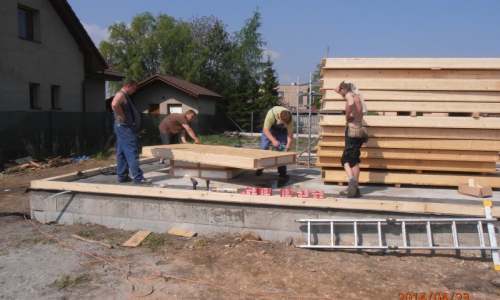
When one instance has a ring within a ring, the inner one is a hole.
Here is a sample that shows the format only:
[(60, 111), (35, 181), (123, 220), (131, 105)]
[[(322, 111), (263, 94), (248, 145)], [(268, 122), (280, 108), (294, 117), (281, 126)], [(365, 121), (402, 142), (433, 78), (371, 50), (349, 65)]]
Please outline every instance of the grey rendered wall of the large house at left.
[[(18, 4), (39, 11), (39, 42), (18, 37)], [(51, 85), (60, 86), (62, 112), (82, 111), (83, 54), (52, 5), (45, 0), (2, 0), (0, 28), (0, 111), (50, 110)], [(39, 84), (39, 110), (30, 109), (29, 83)], [(87, 98), (104, 101), (101, 90), (102, 95), (90, 92)]]

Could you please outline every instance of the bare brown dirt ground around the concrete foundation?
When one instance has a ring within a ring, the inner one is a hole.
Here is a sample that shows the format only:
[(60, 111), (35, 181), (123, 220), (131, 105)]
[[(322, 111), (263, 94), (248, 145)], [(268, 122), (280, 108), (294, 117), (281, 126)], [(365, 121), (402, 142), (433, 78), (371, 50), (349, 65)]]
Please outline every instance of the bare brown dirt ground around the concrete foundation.
[[(184, 238), (25, 219), (30, 181), (110, 160), (0, 174), (0, 299), (498, 299), (500, 272), (473, 254), (318, 251), (239, 234)], [(72, 237), (79, 235), (90, 241)]]

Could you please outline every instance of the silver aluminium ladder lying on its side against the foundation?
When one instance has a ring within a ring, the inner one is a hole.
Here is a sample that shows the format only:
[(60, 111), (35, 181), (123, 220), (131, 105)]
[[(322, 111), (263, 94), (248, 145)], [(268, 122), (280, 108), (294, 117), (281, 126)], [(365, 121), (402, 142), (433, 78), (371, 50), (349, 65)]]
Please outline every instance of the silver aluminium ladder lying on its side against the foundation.
[[(493, 259), (494, 269), (500, 271), (500, 248), (497, 246), (495, 237), (495, 227), (493, 222), (497, 221), (492, 217), (491, 201), (484, 201), (485, 218), (428, 218), (428, 219), (299, 219), (298, 223), (307, 223), (307, 244), (297, 245), (298, 248), (316, 248), (316, 249), (379, 249), (379, 250), (490, 250)], [(457, 224), (461, 223), (476, 223), (479, 245), (465, 246), (460, 245), (457, 231)], [(330, 243), (318, 244), (311, 241), (312, 226), (321, 226), (329, 224), (330, 226)], [(401, 226), (401, 236), (403, 245), (387, 245), (382, 241), (382, 225), (398, 225)], [(433, 242), (432, 224), (449, 224), (451, 225), (451, 234), (453, 237), (453, 246), (439, 246)], [(483, 224), (486, 224), (489, 245), (486, 245), (484, 239)], [(354, 244), (340, 245), (339, 239), (335, 239), (336, 225), (353, 226)], [(378, 233), (378, 245), (361, 245), (359, 241), (359, 225), (376, 225)], [(409, 245), (407, 229), (409, 226), (424, 226), (427, 234), (427, 245)]]

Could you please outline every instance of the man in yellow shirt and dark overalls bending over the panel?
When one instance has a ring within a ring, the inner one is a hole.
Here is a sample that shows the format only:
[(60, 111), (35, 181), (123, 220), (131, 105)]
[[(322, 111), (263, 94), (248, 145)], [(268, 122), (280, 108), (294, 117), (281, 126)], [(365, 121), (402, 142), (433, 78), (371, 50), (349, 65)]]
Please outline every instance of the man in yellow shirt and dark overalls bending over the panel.
[[(275, 106), (271, 108), (264, 120), (264, 128), (260, 139), (260, 149), (268, 150), (272, 145), (274, 148), (279, 148), (280, 143), (285, 145), (286, 151), (292, 147), (293, 140), (293, 122), (292, 114), (283, 106)], [(262, 175), (263, 169), (257, 170), (255, 175)], [(279, 177), (288, 179), (286, 166), (278, 167)]]

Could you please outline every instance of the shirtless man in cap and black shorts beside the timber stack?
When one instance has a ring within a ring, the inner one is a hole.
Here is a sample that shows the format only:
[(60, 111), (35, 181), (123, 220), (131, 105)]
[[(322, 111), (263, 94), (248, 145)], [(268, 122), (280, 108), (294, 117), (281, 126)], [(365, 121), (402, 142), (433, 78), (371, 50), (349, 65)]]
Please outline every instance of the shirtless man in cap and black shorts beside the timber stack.
[(335, 91), (342, 95), (346, 100), (345, 103), (345, 119), (346, 119), (346, 131), (345, 131), (345, 147), (342, 153), (342, 158), (340, 162), (344, 167), (349, 178), (349, 184), (347, 191), (340, 192), (341, 195), (347, 196), (347, 198), (358, 198), (361, 197), (359, 192), (359, 163), (361, 160), (359, 156), (361, 155), (361, 146), (363, 145), (363, 138), (350, 138), (347, 135), (348, 123), (355, 123), (361, 125), (363, 122), (363, 115), (366, 108), (363, 105), (363, 100), (359, 95), (353, 91), (353, 84), (346, 83), (342, 81)]

